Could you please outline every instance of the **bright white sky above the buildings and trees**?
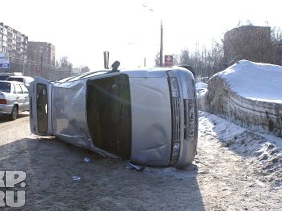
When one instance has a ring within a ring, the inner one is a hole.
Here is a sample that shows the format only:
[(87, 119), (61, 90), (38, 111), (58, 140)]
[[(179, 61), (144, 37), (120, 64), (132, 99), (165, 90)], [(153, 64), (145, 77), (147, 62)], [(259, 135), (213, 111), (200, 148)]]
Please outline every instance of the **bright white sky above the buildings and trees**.
[[(144, 6), (145, 5), (145, 6)], [(51, 42), (56, 60), (103, 68), (103, 51), (121, 67), (154, 65), (163, 24), (164, 55), (211, 46), (227, 30), (247, 24), (282, 28), (282, 1), (204, 0), (8, 0), (1, 1), (0, 22), (28, 36)], [(153, 10), (153, 11), (152, 11)]]

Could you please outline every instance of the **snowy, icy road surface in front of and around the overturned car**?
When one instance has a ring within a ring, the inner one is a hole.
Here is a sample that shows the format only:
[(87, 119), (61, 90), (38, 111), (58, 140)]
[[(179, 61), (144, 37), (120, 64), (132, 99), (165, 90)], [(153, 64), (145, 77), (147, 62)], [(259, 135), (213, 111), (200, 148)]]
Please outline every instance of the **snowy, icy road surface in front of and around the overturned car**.
[(282, 210), (281, 139), (208, 113), (200, 113), (198, 155), (184, 170), (128, 170), (32, 135), (27, 114), (0, 121), (0, 131), (0, 169), (27, 174), (26, 187), (16, 186), (26, 191), (20, 210)]

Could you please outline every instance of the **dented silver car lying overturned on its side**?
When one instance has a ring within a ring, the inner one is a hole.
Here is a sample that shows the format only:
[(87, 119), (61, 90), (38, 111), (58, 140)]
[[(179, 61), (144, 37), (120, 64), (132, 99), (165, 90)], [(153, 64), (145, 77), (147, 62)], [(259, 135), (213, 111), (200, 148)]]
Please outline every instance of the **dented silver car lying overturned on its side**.
[(198, 136), (193, 74), (185, 68), (102, 70), (30, 83), (30, 129), (112, 158), (185, 167)]

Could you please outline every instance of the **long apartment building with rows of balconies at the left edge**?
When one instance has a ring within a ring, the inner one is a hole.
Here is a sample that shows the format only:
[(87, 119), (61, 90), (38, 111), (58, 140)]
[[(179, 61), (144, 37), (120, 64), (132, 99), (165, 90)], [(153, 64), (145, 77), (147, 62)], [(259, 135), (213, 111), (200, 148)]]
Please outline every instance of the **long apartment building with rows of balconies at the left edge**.
[(27, 42), (25, 34), (0, 23), (0, 52), (9, 53), (10, 59), (10, 68), (6, 71), (25, 72)]

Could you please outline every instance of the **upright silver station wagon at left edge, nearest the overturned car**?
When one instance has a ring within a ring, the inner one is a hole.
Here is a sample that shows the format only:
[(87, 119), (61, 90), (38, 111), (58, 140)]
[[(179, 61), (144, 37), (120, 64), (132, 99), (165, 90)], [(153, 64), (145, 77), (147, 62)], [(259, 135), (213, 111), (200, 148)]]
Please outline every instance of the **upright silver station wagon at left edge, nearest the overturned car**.
[(0, 114), (15, 120), (19, 112), (29, 110), (27, 87), (17, 81), (0, 81)]

